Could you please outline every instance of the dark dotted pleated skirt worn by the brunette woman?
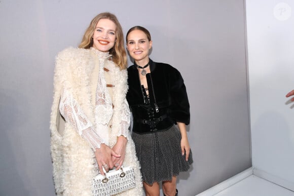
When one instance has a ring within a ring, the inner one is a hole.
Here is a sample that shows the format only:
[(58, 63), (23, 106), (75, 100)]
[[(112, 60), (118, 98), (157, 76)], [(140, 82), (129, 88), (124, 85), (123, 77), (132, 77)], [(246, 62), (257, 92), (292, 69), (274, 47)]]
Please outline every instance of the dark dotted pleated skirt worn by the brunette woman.
[(144, 182), (168, 181), (172, 176), (186, 172), (193, 163), (192, 152), (186, 161), (186, 152), (181, 153), (180, 132), (174, 125), (167, 131), (157, 131), (147, 134), (132, 132), (137, 158), (141, 165)]

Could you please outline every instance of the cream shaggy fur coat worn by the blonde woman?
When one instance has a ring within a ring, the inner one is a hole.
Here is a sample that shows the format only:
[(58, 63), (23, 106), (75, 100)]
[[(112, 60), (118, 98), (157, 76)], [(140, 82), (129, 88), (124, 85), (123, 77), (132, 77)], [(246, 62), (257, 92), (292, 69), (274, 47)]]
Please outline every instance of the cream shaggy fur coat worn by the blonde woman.
[[(97, 62), (88, 49), (68, 48), (56, 57), (54, 72), (54, 97), (51, 112), (51, 156), (53, 177), (57, 195), (92, 195), (92, 180), (95, 175), (95, 154), (89, 143), (60, 115), (58, 105), (63, 89), (68, 90), (80, 104), (91, 122), (95, 120), (95, 108), (90, 104), (89, 82), (91, 72)], [(107, 60), (105, 60), (105, 64)], [(127, 72), (114, 66), (111, 69), (114, 93), (112, 128), (109, 129), (109, 146), (117, 141), (120, 128), (121, 105), (125, 101), (128, 89)], [(103, 136), (100, 136), (103, 137)], [(135, 171), (136, 187), (119, 195), (143, 195), (139, 162), (131, 137), (126, 147), (125, 166), (132, 166)]]

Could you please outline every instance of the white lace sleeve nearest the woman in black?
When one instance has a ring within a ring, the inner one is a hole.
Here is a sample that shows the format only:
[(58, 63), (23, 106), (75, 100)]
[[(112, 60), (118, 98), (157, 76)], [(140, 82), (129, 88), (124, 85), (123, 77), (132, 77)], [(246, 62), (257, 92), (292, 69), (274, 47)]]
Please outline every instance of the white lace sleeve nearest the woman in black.
[(122, 106), (122, 121), (121, 121), (121, 131), (118, 136), (123, 135), (129, 140), (129, 126), (130, 126), (130, 109), (127, 100), (125, 99), (123, 106)]

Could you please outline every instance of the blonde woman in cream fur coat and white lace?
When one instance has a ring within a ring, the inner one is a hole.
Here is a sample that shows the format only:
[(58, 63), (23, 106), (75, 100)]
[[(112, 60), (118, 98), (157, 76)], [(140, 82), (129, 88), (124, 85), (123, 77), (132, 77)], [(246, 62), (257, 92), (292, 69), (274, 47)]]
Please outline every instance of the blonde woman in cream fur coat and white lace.
[(79, 48), (56, 57), (51, 153), (58, 195), (92, 195), (102, 167), (122, 165), (134, 168), (136, 187), (120, 195), (143, 194), (128, 131), (126, 63), (122, 27), (111, 13), (91, 21)]

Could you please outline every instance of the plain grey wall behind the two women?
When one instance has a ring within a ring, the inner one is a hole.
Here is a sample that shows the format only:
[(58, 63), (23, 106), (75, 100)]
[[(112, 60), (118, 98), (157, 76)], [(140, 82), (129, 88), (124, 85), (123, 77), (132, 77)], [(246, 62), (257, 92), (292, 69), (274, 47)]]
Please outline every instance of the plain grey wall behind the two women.
[(0, 1), (0, 195), (54, 195), (49, 116), (55, 55), (78, 46), (90, 20), (142, 25), (154, 61), (182, 73), (194, 164), (178, 180), (195, 195), (251, 166), (243, 0)]

